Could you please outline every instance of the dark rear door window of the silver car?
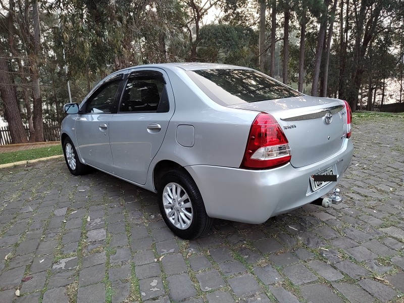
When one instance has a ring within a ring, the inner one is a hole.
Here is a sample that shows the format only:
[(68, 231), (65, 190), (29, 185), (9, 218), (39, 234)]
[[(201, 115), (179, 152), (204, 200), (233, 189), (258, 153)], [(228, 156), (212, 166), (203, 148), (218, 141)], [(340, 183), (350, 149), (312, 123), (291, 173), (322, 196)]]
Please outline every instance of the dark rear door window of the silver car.
[(168, 112), (164, 77), (157, 71), (133, 72), (123, 91), (119, 112)]

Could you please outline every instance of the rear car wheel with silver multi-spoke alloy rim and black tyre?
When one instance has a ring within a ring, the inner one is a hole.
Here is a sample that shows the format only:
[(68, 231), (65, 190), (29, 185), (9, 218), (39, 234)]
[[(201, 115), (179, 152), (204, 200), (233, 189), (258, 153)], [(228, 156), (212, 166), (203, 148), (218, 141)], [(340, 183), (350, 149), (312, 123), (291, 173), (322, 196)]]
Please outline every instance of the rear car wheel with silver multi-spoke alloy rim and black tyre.
[(213, 219), (207, 215), (199, 189), (188, 174), (172, 170), (159, 183), (160, 212), (174, 234), (190, 240), (211, 228)]

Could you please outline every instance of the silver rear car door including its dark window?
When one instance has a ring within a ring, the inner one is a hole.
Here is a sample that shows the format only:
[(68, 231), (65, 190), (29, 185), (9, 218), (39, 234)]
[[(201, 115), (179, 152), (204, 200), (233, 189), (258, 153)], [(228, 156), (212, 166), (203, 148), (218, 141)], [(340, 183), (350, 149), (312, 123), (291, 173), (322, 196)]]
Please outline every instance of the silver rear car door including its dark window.
[(133, 70), (117, 114), (110, 120), (114, 174), (145, 184), (151, 160), (163, 143), (174, 114), (174, 95), (160, 69)]

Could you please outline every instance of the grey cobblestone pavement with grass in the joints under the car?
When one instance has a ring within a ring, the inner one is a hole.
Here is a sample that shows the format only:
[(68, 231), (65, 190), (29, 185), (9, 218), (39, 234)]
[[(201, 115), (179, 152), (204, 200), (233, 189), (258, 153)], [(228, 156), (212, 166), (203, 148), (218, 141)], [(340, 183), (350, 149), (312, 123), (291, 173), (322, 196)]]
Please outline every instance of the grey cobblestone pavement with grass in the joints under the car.
[(0, 170), (0, 302), (402, 302), (404, 123), (355, 123), (344, 203), (217, 220), (196, 241), (173, 236), (154, 193), (107, 174)]

